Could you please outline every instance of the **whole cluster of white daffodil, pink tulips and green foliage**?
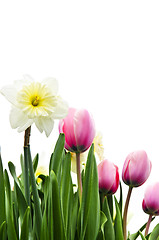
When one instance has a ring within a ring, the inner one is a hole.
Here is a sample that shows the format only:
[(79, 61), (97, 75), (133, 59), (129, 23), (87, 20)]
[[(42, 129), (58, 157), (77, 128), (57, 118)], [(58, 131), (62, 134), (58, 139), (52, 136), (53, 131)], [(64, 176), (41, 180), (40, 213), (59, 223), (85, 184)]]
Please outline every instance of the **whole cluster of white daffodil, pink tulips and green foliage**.
[[(97, 165), (94, 151), (95, 123), (85, 109), (68, 108), (57, 95), (53, 78), (35, 82), (25, 76), (1, 89), (11, 102), (10, 124), (24, 131), (21, 174), (8, 163), (3, 169), (0, 156), (0, 240), (135, 240), (159, 239), (159, 224), (149, 232), (151, 221), (159, 215), (159, 183), (149, 186), (142, 208), (149, 215), (139, 230), (127, 230), (127, 213), (132, 190), (141, 186), (151, 172), (145, 151), (126, 157), (120, 181), (118, 167), (102, 159)], [(32, 160), (30, 133), (33, 124), (48, 137), (54, 119), (59, 121), (59, 137), (50, 156), (49, 174), (38, 174), (39, 155)], [(88, 152), (85, 166), (81, 157)], [(71, 175), (75, 156), (77, 184)], [(13, 186), (10, 177), (14, 180)], [(123, 203), (122, 184), (128, 185)], [(119, 188), (120, 196), (115, 193)]]

